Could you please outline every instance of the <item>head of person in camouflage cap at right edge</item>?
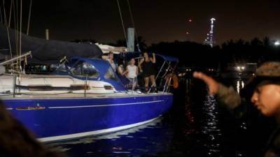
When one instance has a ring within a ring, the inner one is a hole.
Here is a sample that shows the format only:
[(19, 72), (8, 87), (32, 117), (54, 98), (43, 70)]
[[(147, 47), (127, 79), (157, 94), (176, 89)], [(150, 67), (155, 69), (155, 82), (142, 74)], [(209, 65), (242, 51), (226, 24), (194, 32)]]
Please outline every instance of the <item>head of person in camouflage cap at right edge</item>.
[(266, 62), (257, 68), (241, 95), (250, 96), (265, 116), (280, 114), (280, 62)]

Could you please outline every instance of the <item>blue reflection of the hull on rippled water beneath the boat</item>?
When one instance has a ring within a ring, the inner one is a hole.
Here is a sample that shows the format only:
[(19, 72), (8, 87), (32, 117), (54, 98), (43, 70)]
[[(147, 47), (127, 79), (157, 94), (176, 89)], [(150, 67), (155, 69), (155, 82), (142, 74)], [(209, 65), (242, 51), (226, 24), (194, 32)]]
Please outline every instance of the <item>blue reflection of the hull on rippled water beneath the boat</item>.
[(173, 130), (157, 119), (116, 133), (49, 143), (52, 150), (78, 156), (155, 156), (169, 147)]

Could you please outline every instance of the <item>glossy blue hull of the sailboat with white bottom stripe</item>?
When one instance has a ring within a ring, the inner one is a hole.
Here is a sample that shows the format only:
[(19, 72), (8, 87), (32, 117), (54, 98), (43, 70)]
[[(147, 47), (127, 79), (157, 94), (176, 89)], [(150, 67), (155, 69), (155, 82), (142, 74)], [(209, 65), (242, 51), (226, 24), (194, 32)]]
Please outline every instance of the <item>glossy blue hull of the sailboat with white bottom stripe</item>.
[(41, 141), (65, 140), (138, 126), (160, 117), (172, 102), (172, 94), (3, 100), (13, 116)]

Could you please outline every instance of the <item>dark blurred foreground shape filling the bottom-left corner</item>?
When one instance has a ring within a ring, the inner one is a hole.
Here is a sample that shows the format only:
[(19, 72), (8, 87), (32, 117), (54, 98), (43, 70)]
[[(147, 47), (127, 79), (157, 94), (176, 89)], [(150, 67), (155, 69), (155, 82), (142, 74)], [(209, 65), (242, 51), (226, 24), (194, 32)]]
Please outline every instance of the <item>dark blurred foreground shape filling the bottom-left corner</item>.
[(45, 149), (22, 124), (15, 120), (0, 101), (0, 156), (58, 157)]

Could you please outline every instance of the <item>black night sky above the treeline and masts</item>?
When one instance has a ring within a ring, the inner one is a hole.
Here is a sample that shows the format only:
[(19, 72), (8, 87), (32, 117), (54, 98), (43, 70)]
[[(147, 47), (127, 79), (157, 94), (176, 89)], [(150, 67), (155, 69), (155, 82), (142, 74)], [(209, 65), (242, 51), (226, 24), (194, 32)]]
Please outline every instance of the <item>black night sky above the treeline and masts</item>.
[[(119, 1), (125, 27), (132, 27), (127, 1)], [(24, 3), (29, 5), (29, 1)], [(148, 44), (174, 40), (202, 43), (209, 32), (211, 17), (216, 17), (217, 44), (240, 38), (280, 38), (279, 0), (130, 0), (130, 5), (137, 33)], [(23, 12), (26, 18), (28, 8), (24, 7)], [(115, 43), (124, 38), (116, 0), (34, 0), (30, 35), (44, 38), (46, 28), (55, 40)]]

